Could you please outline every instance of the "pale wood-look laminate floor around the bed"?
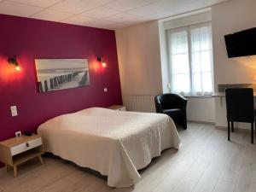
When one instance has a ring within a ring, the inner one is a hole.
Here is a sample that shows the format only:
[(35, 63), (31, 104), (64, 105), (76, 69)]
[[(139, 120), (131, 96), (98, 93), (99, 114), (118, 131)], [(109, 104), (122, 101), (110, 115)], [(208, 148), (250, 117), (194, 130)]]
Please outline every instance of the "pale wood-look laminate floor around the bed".
[(0, 192), (256, 192), (256, 145), (248, 133), (231, 134), (213, 125), (189, 124), (179, 131), (183, 147), (168, 149), (141, 172), (131, 188), (113, 189), (101, 177), (71, 163), (44, 158), (13, 172), (0, 170)]

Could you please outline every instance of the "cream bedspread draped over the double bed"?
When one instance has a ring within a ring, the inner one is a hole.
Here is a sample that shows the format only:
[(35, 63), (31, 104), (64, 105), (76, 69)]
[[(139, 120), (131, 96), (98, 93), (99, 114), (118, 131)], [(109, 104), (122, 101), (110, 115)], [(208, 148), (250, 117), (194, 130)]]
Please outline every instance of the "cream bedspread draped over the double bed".
[(108, 176), (111, 187), (129, 187), (137, 170), (166, 148), (179, 148), (166, 114), (88, 108), (50, 119), (38, 128), (47, 152)]

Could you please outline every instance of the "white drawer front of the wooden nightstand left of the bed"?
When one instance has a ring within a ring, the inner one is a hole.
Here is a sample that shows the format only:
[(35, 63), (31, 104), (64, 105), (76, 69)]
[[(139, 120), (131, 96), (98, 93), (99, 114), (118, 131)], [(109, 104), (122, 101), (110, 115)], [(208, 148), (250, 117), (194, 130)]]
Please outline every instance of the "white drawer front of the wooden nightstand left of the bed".
[(27, 151), (31, 148), (36, 148), (42, 145), (42, 140), (40, 138), (33, 139), (26, 143), (21, 143), (19, 145), (15, 145), (14, 147), (10, 148), (11, 155), (14, 156), (15, 154), (20, 154), (24, 151)]

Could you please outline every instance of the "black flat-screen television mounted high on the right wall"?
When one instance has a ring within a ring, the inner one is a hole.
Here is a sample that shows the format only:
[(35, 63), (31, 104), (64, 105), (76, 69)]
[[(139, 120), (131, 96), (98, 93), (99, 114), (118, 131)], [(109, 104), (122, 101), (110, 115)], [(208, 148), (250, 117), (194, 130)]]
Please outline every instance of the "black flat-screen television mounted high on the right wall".
[(256, 27), (224, 36), (229, 58), (256, 55)]

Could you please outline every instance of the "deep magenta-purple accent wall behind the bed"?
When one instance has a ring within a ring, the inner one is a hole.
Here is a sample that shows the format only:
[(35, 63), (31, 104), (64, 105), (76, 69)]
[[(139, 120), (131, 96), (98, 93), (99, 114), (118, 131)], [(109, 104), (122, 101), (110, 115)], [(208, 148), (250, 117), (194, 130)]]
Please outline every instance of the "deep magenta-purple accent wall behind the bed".
[[(7, 62), (13, 55), (20, 72)], [(108, 67), (100, 66), (97, 55)], [(36, 58), (88, 58), (90, 86), (39, 94)], [(15, 131), (37, 131), (38, 125), (63, 113), (121, 103), (113, 31), (0, 15), (0, 141), (14, 137)], [(11, 116), (12, 105), (19, 116)]]

